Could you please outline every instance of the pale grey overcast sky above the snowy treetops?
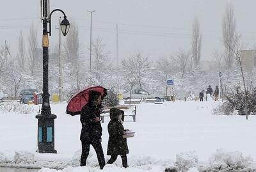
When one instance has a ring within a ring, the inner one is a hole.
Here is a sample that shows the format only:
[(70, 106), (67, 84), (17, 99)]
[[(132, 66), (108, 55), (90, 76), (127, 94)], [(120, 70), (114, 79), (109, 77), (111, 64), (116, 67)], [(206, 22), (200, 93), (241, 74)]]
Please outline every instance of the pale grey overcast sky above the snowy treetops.
[[(211, 58), (215, 50), (221, 50), (221, 20), (227, 0), (54, 0), (51, 10), (61, 8), (68, 19), (76, 20), (84, 56), (88, 58), (90, 47), (90, 13), (93, 13), (93, 38), (100, 36), (107, 45), (106, 51), (116, 56), (116, 24), (118, 24), (119, 57), (126, 58), (141, 51), (150, 59), (169, 56), (179, 49), (189, 50), (191, 25), (195, 16), (202, 31), (202, 59)], [(235, 8), (237, 30), (243, 33), (248, 48), (256, 47), (255, 0), (232, 0)], [(42, 24), (39, 23), (39, 0), (9, 0), (0, 6), (0, 45), (7, 40), (12, 56), (16, 56), (19, 31), (28, 40), (32, 22), (38, 27), (41, 44)], [(61, 13), (52, 15), (50, 46), (58, 41), (55, 26)]]

